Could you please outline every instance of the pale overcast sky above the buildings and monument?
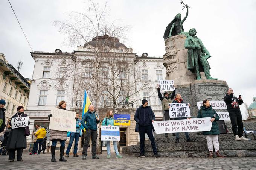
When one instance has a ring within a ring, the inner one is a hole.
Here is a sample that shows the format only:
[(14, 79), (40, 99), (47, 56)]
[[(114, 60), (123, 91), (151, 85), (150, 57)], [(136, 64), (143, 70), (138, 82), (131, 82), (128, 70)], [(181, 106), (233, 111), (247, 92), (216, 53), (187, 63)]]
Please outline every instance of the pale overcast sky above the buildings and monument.
[[(10, 0), (34, 51), (73, 52), (77, 47), (63, 43), (64, 36), (52, 21), (68, 19), (66, 12), (85, 12), (86, 0)], [(105, 1), (96, 1), (104, 4)], [(180, 0), (109, 0), (110, 19), (130, 26), (126, 46), (141, 55), (163, 56), (163, 33), (176, 14), (183, 18)], [(235, 96), (242, 95), (248, 105), (256, 96), (256, 1), (255, 0), (184, 0), (189, 15), (184, 30), (197, 29), (197, 36), (210, 52), (212, 77), (226, 80)], [(34, 59), (8, 0), (0, 0), (0, 53), (10, 64), (23, 61), (20, 73), (32, 77)], [(83, 45), (83, 44), (77, 44)], [(241, 106), (244, 112), (244, 106)]]

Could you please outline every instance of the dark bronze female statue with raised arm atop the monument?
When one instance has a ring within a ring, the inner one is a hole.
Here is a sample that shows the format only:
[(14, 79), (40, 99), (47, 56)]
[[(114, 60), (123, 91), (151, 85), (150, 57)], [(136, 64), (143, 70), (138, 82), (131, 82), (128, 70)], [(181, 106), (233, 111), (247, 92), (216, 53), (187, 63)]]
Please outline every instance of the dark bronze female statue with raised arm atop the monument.
[(189, 6), (186, 5), (187, 8), (187, 13), (186, 13), (186, 17), (183, 18), (183, 20), (181, 20), (181, 14), (178, 13), (175, 18), (171, 21), (171, 23), (168, 24), (168, 26), (165, 29), (165, 33), (163, 35), (164, 39), (167, 39), (171, 36), (175, 36), (175, 35), (179, 35), (179, 34), (186, 34), (184, 32), (184, 28), (182, 26), (182, 24), (184, 23), (184, 21), (187, 18), (187, 15), (189, 15)]

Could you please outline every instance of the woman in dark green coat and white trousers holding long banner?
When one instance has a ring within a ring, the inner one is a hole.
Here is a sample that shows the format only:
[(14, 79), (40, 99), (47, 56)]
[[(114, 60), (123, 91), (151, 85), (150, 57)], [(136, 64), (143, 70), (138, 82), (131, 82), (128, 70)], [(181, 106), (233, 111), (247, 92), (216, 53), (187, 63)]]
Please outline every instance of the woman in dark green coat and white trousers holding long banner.
[[(197, 118), (202, 117), (211, 117), (210, 120), (212, 122), (212, 128), (210, 131), (204, 131), (203, 135), (205, 135), (207, 139), (207, 146), (209, 150), (208, 158), (213, 158), (213, 146), (216, 151), (217, 158), (224, 158), (219, 152), (219, 141), (218, 136), (220, 134), (218, 123), (216, 121), (219, 120), (219, 115), (216, 113), (216, 111), (212, 108), (210, 105), (210, 101), (208, 99), (203, 101), (203, 106), (201, 106), (201, 109), (198, 111)], [(191, 119), (191, 118), (188, 118)]]

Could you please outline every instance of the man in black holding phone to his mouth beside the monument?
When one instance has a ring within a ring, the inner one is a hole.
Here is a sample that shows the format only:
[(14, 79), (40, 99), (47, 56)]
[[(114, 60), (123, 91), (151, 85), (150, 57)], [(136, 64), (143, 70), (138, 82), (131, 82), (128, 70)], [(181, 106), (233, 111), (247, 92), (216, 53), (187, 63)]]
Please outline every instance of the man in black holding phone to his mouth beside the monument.
[(229, 117), (231, 120), (232, 131), (234, 133), (235, 140), (248, 140), (247, 138), (243, 137), (244, 124), (239, 105), (242, 105), (244, 102), (242, 100), (241, 95), (239, 95), (238, 98), (235, 97), (233, 89), (229, 88), (226, 96), (224, 97), (224, 101), (227, 105), (227, 111), (229, 112)]

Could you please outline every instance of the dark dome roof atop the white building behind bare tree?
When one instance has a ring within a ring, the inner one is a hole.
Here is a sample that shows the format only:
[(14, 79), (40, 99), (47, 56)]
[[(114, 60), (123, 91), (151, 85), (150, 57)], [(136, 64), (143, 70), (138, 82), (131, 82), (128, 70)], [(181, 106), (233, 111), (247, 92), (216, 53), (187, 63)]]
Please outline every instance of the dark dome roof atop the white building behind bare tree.
[(110, 48), (119, 48), (119, 47), (124, 47), (127, 49), (127, 47), (119, 42), (119, 39), (108, 36), (108, 35), (103, 35), (103, 36), (96, 36), (92, 39), (92, 41), (89, 41), (88, 43), (84, 44), (84, 47), (86, 46), (93, 46), (93, 47), (102, 47), (102, 46), (108, 46)]

